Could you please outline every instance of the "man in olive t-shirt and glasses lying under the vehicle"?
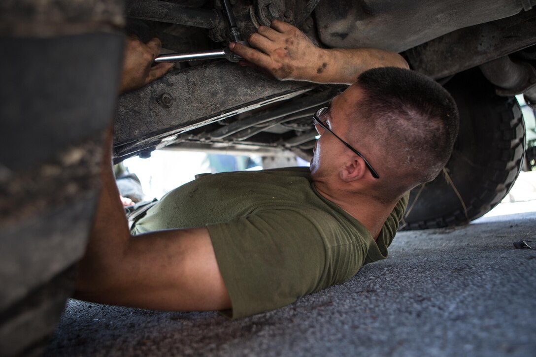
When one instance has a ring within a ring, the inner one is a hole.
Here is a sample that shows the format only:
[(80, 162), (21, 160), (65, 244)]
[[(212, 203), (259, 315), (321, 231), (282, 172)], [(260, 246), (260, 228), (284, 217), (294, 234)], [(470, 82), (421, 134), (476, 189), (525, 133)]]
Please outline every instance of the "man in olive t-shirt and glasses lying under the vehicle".
[[(259, 27), (249, 43), (230, 46), (243, 65), (279, 79), (352, 84), (311, 118), (320, 137), (310, 168), (200, 177), (163, 197), (132, 235), (108, 151), (76, 298), (238, 318), (387, 257), (407, 192), (450, 157), (458, 130), (452, 98), (398, 54), (320, 49), (281, 21)], [(158, 52), (158, 40), (128, 41), (122, 91), (170, 68), (151, 68)]]

